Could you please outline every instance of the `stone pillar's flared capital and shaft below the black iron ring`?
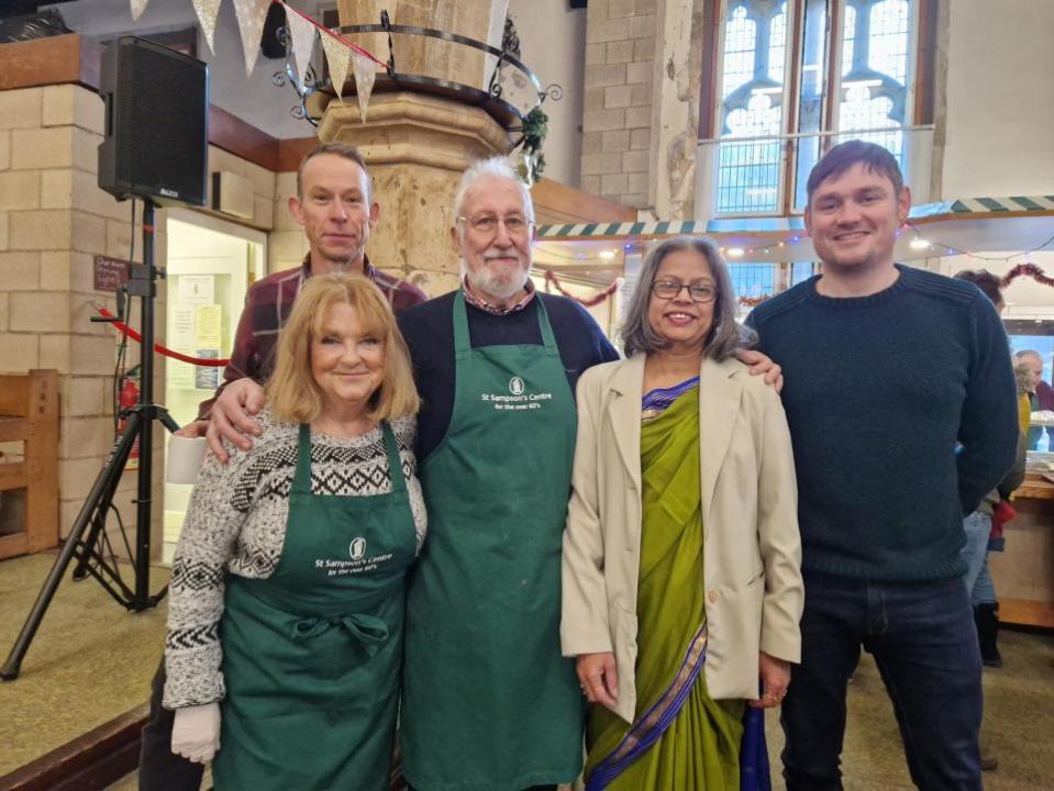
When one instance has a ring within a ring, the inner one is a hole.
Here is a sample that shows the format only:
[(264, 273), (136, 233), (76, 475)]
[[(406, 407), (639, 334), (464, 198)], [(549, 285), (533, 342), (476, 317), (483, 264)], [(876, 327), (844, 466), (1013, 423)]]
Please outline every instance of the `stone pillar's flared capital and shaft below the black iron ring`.
[(403, 92), (374, 94), (365, 123), (354, 99), (330, 102), (319, 137), (357, 146), (369, 164), (381, 204), (370, 260), (430, 296), (454, 289), (448, 230), (461, 174), (471, 159), (507, 154), (509, 134), (479, 108)]

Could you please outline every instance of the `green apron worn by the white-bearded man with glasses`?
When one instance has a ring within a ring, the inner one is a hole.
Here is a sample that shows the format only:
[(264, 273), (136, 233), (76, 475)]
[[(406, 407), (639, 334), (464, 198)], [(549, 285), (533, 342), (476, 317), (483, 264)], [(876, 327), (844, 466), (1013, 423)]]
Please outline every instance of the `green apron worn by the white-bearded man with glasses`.
[(429, 541), (410, 575), (400, 734), (419, 791), (518, 791), (581, 768), (584, 704), (561, 656), (561, 546), (577, 416), (544, 345), (471, 348), (454, 300), (450, 428), (420, 465)]

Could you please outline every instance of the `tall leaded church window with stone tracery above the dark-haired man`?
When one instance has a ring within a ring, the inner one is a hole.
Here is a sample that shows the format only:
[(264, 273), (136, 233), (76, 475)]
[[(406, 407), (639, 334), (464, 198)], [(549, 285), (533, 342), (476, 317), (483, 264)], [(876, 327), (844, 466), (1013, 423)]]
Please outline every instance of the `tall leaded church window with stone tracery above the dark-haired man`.
[(907, 170), (906, 132), (932, 115), (918, 100), (933, 0), (714, 0), (710, 12), (700, 140), (711, 145), (700, 153), (713, 156), (701, 172), (715, 214), (802, 210), (812, 166), (851, 137)]

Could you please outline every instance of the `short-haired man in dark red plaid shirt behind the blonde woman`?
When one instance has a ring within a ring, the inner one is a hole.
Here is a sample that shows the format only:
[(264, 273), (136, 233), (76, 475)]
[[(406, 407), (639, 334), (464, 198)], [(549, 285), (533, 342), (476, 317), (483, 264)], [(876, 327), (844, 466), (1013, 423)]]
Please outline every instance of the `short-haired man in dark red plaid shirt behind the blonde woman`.
[[(251, 377), (263, 383), (275, 366), (275, 346), (303, 281), (312, 275), (362, 272), (373, 280), (397, 313), (424, 302), (415, 286), (375, 269), (366, 258), (366, 242), (380, 207), (373, 200), (369, 172), (362, 154), (344, 143), (323, 143), (297, 170), (297, 194), (289, 212), (303, 227), (309, 253), (296, 269), (275, 272), (249, 288), (234, 335), (234, 350), (223, 371), (223, 385), (198, 410), (198, 420), (180, 436), (204, 436), (215, 396), (232, 381)], [(219, 421), (219, 416), (218, 416)], [(197, 791), (202, 766), (171, 751), (173, 712), (162, 706), (165, 658), (154, 676), (151, 711), (143, 728), (140, 756), (142, 791)]]

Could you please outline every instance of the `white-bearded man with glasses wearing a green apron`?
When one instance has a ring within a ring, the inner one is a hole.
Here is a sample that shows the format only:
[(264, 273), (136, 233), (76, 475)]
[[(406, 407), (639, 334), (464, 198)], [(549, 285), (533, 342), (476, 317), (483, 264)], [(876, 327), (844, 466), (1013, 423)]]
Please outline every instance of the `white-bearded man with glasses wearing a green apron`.
[(554, 788), (581, 768), (558, 636), (574, 389), (618, 354), (584, 308), (534, 291), (533, 205), (503, 160), (469, 168), (454, 215), (462, 288), (399, 319), (430, 521), (407, 593), (403, 775), (417, 791)]

